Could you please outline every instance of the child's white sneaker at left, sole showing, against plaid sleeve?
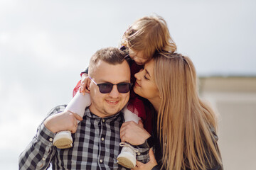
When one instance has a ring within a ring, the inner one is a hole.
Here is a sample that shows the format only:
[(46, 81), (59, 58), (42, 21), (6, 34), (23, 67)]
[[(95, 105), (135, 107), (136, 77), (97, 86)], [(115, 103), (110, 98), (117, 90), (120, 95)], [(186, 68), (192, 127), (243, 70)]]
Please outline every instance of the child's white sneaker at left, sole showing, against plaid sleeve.
[(72, 147), (73, 139), (69, 130), (58, 132), (54, 139), (53, 145), (59, 149), (66, 149)]

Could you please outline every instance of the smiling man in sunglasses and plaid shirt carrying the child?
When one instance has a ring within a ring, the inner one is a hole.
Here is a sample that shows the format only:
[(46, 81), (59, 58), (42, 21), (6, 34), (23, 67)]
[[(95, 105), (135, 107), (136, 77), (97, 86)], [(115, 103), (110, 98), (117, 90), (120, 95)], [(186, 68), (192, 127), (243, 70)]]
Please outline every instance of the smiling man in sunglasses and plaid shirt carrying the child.
[[(98, 50), (90, 59), (90, 99), (85, 115), (63, 112), (57, 106), (39, 125), (36, 136), (19, 157), (20, 169), (125, 169), (117, 164), (122, 108), (129, 100), (130, 70), (124, 55), (114, 47)], [(78, 121), (80, 123), (78, 124)], [(55, 133), (70, 130), (73, 147), (53, 146)], [(148, 160), (148, 149), (139, 149), (137, 159)]]

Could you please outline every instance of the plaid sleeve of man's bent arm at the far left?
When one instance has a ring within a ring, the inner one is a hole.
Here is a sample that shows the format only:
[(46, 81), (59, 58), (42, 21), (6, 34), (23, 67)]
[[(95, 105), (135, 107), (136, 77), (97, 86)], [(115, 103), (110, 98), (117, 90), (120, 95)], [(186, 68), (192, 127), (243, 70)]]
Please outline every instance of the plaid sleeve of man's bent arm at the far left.
[[(65, 106), (55, 107), (46, 118), (64, 109)], [(36, 136), (18, 158), (19, 169), (47, 169), (56, 152), (56, 148), (53, 147), (54, 136), (55, 133), (46, 128), (43, 120), (38, 126)]]

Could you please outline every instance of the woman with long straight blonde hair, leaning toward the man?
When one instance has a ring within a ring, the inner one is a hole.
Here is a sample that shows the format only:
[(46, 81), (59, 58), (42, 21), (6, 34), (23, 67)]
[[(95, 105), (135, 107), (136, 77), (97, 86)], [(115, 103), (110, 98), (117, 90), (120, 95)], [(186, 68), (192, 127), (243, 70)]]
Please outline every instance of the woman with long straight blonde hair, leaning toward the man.
[[(223, 169), (216, 116), (198, 97), (191, 60), (176, 53), (162, 54), (147, 62), (135, 77), (134, 92), (148, 99), (156, 110), (153, 137), (157, 140), (156, 158), (151, 156), (147, 164), (137, 162), (134, 169)], [(124, 123), (122, 141), (141, 145), (149, 139), (140, 125)]]

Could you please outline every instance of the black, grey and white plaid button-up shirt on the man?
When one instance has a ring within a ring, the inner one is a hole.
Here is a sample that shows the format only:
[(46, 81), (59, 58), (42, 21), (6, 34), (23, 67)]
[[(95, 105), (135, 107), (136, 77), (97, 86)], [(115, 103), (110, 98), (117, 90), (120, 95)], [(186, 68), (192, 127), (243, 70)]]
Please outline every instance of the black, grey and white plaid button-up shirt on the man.
[[(62, 112), (65, 106), (53, 108), (48, 116)], [(19, 169), (125, 169), (117, 164), (120, 127), (124, 122), (122, 112), (100, 118), (87, 108), (78, 130), (73, 134), (73, 147), (58, 149), (53, 146), (55, 133), (43, 123), (37, 134), (19, 157)], [(137, 160), (149, 161), (149, 148), (138, 148)], [(139, 155), (139, 156), (138, 156)]]

